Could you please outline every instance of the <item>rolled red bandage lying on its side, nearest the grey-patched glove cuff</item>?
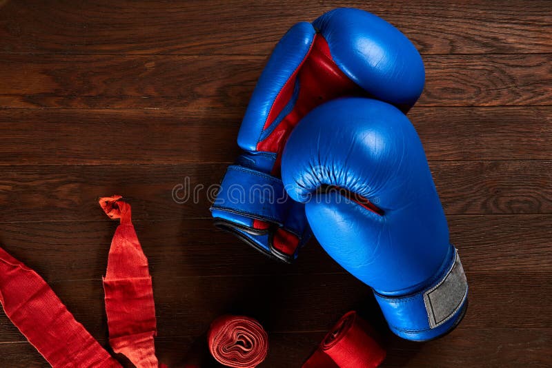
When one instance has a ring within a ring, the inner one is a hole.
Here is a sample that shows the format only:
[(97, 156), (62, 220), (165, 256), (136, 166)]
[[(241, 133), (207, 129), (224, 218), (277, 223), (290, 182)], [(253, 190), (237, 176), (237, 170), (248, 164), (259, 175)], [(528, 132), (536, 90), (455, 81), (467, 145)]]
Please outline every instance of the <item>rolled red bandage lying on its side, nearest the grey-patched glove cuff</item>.
[(350, 311), (328, 332), (302, 368), (374, 368), (385, 355), (371, 336), (368, 323)]

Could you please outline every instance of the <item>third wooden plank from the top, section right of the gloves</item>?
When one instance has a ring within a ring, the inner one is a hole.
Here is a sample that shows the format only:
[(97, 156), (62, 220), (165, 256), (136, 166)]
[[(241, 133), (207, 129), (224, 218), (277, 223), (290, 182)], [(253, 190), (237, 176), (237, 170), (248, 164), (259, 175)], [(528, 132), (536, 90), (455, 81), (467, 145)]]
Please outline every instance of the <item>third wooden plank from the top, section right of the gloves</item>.
[(430, 161), (550, 159), (552, 108), (417, 108), (408, 113)]

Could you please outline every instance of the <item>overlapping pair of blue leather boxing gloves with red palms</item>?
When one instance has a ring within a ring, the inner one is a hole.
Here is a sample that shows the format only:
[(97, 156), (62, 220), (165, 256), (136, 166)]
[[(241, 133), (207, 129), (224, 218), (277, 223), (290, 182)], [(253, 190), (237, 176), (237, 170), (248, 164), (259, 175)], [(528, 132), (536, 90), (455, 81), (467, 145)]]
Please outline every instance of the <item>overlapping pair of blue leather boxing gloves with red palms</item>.
[(420, 54), (372, 14), (339, 9), (298, 23), (259, 78), (239, 131), (244, 154), (211, 208), (216, 225), (286, 262), (312, 228), (410, 340), (457, 325), (468, 290), (403, 113), (423, 84)]

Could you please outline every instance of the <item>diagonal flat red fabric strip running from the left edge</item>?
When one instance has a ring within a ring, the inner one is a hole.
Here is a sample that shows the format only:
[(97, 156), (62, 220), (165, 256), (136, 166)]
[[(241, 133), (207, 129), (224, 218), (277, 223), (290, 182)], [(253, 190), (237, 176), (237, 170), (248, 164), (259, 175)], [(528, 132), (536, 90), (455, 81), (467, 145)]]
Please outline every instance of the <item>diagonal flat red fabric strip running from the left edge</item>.
[(36, 272), (1, 248), (0, 302), (52, 367), (121, 367)]

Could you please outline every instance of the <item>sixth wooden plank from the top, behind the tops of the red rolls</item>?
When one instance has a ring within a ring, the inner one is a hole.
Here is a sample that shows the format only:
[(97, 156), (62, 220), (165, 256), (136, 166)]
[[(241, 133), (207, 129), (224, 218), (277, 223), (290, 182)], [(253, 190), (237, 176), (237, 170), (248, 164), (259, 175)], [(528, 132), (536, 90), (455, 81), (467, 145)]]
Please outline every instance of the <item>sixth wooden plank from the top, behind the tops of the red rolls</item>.
[[(457, 331), (549, 327), (549, 272), (469, 272), (470, 305)], [(327, 331), (350, 309), (362, 311), (388, 333), (371, 289), (349, 274), (157, 277), (152, 271), (159, 338), (200, 336), (225, 313), (257, 318), (269, 333)], [(50, 283), (90, 333), (107, 337), (101, 278)], [(504, 325), (504, 323), (507, 324)], [(20, 341), (19, 331), (0, 315), (0, 341)]]

